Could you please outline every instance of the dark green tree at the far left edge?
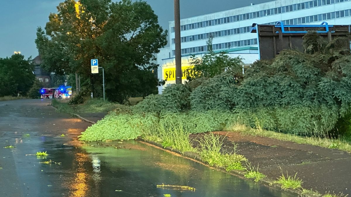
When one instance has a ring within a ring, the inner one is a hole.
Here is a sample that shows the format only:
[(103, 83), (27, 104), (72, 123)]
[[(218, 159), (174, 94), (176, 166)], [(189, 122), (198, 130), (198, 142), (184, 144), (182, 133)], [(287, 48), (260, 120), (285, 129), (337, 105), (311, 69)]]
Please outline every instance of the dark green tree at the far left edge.
[(0, 96), (25, 95), (35, 79), (31, 57), (23, 55), (0, 58)]

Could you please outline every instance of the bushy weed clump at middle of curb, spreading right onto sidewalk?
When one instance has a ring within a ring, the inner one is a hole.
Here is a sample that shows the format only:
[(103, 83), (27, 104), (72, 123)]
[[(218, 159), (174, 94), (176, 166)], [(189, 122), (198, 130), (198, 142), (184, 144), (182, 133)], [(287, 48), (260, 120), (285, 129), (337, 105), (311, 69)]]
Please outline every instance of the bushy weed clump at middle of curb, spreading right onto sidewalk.
[(223, 139), (220, 140), (219, 135), (205, 134), (198, 142), (200, 157), (210, 166), (225, 167), (228, 172), (231, 170), (245, 170), (241, 162), (247, 161), (247, 159), (243, 155), (238, 155), (235, 152), (233, 154), (222, 154), (220, 152)]

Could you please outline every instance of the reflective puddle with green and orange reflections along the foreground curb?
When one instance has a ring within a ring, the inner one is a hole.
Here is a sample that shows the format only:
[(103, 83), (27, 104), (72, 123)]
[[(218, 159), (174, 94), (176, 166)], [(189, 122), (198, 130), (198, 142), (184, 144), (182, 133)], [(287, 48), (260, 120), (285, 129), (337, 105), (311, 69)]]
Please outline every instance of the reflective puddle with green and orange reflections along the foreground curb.
[[(25, 196), (290, 196), (138, 141), (82, 144), (71, 137), (31, 134), (16, 144), (14, 170)], [(24, 156), (37, 151), (49, 156)], [(62, 164), (39, 163), (49, 159)], [(196, 191), (156, 187), (163, 183)]]

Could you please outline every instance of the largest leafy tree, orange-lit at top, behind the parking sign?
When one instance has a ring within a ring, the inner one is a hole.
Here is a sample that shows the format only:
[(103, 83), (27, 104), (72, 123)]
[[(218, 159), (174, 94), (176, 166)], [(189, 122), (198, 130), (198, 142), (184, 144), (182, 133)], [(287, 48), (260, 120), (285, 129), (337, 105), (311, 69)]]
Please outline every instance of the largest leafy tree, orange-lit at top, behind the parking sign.
[[(167, 31), (144, 1), (66, 0), (49, 15), (35, 40), (43, 66), (56, 74), (79, 73), (90, 79), (95, 95), (102, 95), (101, 73), (92, 75), (90, 60), (99, 59), (105, 69), (110, 100), (126, 95), (146, 95), (156, 90), (151, 69), (154, 54), (167, 43)], [(145, 75), (141, 74), (144, 73)], [(152, 83), (150, 83), (152, 81)]]

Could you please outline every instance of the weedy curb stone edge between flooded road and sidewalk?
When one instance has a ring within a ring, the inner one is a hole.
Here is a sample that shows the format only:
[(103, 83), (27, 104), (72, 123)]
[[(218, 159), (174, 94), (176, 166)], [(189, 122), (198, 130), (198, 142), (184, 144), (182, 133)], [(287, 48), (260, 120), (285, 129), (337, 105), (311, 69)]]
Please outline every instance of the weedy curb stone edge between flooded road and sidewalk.
[[(162, 146), (162, 144), (160, 143), (157, 143), (157, 142), (154, 142), (154, 141), (148, 141), (148, 140), (144, 140), (143, 138), (141, 138), (140, 136), (138, 137), (138, 140), (139, 141), (142, 141), (142, 142), (145, 142), (145, 143), (148, 143), (148, 144), (152, 144), (152, 145), (155, 145), (161, 149), (165, 149), (165, 150), (169, 150), (169, 151), (172, 151), (172, 152), (176, 152), (178, 153), (179, 155), (182, 155), (184, 157), (187, 157), (187, 158), (190, 158), (190, 159), (194, 159), (198, 162), (200, 162), (201, 164), (204, 164), (204, 165), (208, 165), (207, 162), (203, 161), (201, 158), (200, 158), (200, 155), (196, 152), (184, 152), (184, 153), (181, 153), (179, 150), (177, 149), (173, 149), (172, 147), (166, 147), (164, 148)], [(218, 170), (222, 171), (222, 172), (225, 172), (225, 173), (228, 173), (228, 174), (231, 174), (231, 175), (234, 175), (234, 176), (237, 176), (241, 179), (245, 179), (245, 180), (254, 180), (254, 178), (245, 178), (244, 175), (246, 174), (245, 171), (241, 171), (241, 170), (231, 170), (230, 172), (226, 171), (224, 167), (218, 167), (217, 168)], [(258, 182), (259, 184), (263, 184), (267, 187), (270, 187), (270, 188), (273, 188), (273, 189), (276, 189), (278, 191), (282, 191), (282, 188), (280, 186), (280, 184), (276, 184), (276, 183), (273, 183), (274, 181), (276, 181), (275, 179), (271, 179), (271, 178), (262, 178), (260, 179), (260, 181)], [(302, 192), (300, 190), (297, 190), (297, 189), (286, 189), (284, 190), (285, 192), (288, 192), (288, 193), (291, 193), (293, 195), (297, 195), (297, 196), (303, 196), (303, 197), (317, 197), (317, 196), (320, 196), (320, 195), (314, 195), (314, 194), (302, 194)]]

